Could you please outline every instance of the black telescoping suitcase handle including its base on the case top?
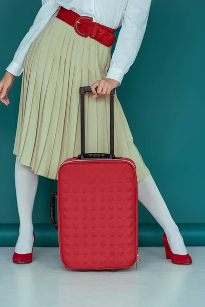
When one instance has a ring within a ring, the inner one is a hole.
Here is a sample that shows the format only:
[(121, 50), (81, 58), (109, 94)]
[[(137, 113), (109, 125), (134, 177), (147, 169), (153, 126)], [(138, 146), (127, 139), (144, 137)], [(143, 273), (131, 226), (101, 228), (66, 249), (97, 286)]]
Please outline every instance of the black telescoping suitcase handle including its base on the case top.
[[(97, 91), (97, 87), (95, 89)], [(80, 87), (80, 125), (81, 125), (81, 155), (79, 159), (115, 159), (114, 156), (114, 94), (110, 93), (110, 153), (86, 153), (85, 152), (85, 94), (92, 93), (90, 86)]]

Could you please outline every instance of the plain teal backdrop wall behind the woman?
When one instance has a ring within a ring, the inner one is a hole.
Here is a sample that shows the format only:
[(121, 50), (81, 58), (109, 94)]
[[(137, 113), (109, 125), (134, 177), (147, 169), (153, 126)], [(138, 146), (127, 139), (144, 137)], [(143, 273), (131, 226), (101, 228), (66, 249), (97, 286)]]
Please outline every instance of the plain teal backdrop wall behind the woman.
[[(7, 0), (2, 5), (1, 76), (40, 3)], [(204, 11), (204, 0), (153, 0), (138, 57), (118, 87), (135, 144), (190, 245), (205, 242)], [(7, 246), (15, 244), (18, 228), (12, 151), (21, 79), (9, 93), (10, 106), (0, 105), (0, 245)], [(38, 245), (57, 244), (49, 217), (55, 190), (55, 181), (40, 178), (33, 216)], [(162, 231), (142, 206), (139, 222), (140, 245), (160, 245)]]

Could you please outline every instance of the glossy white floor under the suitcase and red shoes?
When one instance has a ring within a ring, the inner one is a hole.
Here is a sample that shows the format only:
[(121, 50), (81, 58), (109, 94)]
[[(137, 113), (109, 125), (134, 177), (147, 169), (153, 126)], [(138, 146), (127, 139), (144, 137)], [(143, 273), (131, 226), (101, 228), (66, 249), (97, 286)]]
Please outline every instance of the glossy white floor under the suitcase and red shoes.
[(205, 303), (205, 247), (190, 247), (190, 266), (165, 259), (163, 248), (139, 248), (142, 264), (116, 273), (63, 267), (57, 248), (35, 248), (30, 265), (0, 248), (1, 307), (196, 307)]

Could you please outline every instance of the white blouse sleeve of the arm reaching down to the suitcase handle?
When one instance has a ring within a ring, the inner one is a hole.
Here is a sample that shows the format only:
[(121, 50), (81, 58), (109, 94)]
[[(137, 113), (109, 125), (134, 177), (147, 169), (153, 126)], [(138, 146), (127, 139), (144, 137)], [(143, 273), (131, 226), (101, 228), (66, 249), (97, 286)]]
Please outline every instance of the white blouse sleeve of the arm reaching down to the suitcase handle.
[(128, 0), (107, 78), (120, 84), (134, 63), (144, 37), (152, 0)]

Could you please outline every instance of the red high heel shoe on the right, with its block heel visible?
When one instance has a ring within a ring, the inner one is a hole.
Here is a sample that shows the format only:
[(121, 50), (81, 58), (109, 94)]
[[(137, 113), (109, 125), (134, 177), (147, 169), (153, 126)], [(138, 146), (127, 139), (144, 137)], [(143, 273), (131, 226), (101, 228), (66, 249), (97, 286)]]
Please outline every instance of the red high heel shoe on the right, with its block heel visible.
[(170, 248), (170, 245), (169, 245), (169, 242), (168, 242), (168, 239), (165, 233), (162, 236), (162, 241), (163, 241), (163, 244), (165, 245), (166, 257), (167, 259), (172, 259), (173, 264), (175, 265), (191, 265), (192, 264), (192, 258), (190, 257), (189, 254), (177, 255), (171, 251), (171, 248)]

